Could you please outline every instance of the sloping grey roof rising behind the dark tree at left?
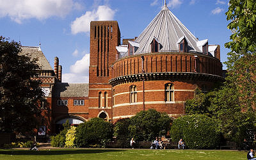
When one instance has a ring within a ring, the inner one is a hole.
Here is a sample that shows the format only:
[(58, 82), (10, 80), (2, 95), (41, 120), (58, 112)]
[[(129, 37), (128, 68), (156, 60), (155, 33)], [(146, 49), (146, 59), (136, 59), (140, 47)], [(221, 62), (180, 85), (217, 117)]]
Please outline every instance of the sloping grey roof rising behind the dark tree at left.
[(37, 58), (37, 64), (42, 67), (42, 70), (52, 70), (52, 67), (41, 51), (40, 47), (21, 47), (22, 51), (20, 54), (29, 56), (31, 58)]

